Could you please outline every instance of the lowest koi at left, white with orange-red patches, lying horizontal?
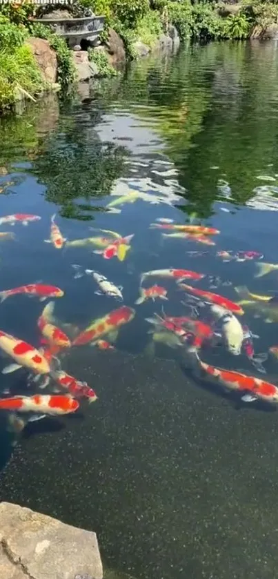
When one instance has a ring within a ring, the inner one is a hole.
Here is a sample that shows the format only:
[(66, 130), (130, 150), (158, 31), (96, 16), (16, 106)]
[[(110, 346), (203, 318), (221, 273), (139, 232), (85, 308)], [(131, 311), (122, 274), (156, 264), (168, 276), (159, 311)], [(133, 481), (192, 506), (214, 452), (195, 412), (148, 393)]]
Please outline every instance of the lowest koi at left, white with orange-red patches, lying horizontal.
[(78, 408), (79, 402), (72, 396), (35, 394), (34, 396), (13, 396), (0, 399), (0, 409), (13, 412), (61, 416), (75, 412)]

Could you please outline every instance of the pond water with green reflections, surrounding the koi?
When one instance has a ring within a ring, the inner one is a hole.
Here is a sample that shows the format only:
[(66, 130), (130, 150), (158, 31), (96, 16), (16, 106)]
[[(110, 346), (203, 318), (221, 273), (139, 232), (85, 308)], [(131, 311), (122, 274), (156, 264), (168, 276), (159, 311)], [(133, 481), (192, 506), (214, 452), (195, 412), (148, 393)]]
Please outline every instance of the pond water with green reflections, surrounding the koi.
[[(0, 233), (14, 233), (0, 239), (1, 291), (61, 288), (54, 320), (71, 340), (96, 318), (132, 309), (118, 335), (99, 336), (114, 349), (99, 342), (58, 353), (61, 368), (96, 391), (94, 404), (81, 400), (76, 415), (33, 422), (22, 435), (2, 413), (0, 499), (95, 530), (108, 567), (137, 579), (275, 576), (275, 404), (254, 395), (259, 382), (232, 392), (205, 381), (188, 353), (192, 335), (180, 346), (177, 327), (158, 326), (154, 340), (146, 318), (208, 323), (217, 335), (202, 344), (203, 362), (277, 384), (269, 349), (278, 347), (278, 266), (262, 265), (277, 263), (277, 54), (275, 42), (188, 47), (133, 64), (83, 100), (59, 107), (50, 97), (1, 119), (1, 217), (41, 217), (28, 226), (0, 218)], [(52, 215), (66, 239), (58, 249), (44, 242)], [(173, 224), (220, 233), (166, 237), (177, 230), (157, 227)], [(133, 237), (119, 249), (111, 231)], [(104, 237), (110, 259), (95, 253)], [(135, 304), (141, 273), (166, 268), (201, 273), (184, 283), (245, 300), (240, 355), (224, 344), (210, 299), (192, 300), (176, 279), (147, 277), (142, 287), (158, 284), (168, 301)], [(95, 293), (86, 269), (121, 287), (123, 302)], [(46, 303), (7, 297), (1, 331), (39, 348)], [(3, 397), (56, 393), (53, 380), (43, 390), (27, 376), (3, 374)]]

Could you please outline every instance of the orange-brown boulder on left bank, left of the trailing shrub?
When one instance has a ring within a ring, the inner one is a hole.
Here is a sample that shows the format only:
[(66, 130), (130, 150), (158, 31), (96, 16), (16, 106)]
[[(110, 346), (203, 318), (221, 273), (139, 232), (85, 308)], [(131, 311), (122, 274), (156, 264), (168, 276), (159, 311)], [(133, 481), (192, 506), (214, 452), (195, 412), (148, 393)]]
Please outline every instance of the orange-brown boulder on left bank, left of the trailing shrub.
[(42, 38), (31, 37), (26, 42), (31, 47), (43, 78), (48, 83), (54, 84), (57, 80), (56, 52), (50, 48), (50, 43)]

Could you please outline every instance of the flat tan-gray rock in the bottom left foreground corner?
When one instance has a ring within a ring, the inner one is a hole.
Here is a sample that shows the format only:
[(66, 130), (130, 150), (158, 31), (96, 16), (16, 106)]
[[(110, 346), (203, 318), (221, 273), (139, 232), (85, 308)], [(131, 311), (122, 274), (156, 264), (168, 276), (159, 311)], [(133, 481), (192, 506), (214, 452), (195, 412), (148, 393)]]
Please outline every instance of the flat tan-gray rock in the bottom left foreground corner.
[(0, 578), (103, 579), (97, 536), (1, 502)]

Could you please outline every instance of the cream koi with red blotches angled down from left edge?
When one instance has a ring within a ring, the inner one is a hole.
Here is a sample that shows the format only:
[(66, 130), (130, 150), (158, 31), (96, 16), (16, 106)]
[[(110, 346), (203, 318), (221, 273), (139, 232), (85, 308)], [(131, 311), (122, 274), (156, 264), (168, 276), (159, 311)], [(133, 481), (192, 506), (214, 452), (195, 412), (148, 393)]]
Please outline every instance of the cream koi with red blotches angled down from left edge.
[(47, 360), (36, 348), (3, 331), (0, 331), (0, 348), (17, 362), (6, 366), (2, 374), (10, 374), (22, 366), (30, 368), (37, 374), (47, 374), (50, 371)]

